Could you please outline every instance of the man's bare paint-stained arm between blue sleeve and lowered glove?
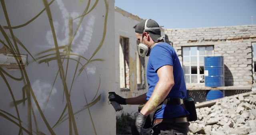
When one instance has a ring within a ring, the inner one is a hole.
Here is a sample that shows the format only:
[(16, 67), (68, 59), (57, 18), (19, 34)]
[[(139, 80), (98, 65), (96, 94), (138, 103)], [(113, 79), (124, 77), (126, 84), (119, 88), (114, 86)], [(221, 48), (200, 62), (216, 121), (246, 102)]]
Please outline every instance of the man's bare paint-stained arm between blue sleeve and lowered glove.
[(159, 81), (156, 84), (150, 99), (140, 111), (140, 113), (145, 116), (148, 116), (151, 111), (164, 101), (174, 85), (173, 66), (166, 65), (160, 67), (157, 71), (157, 75), (159, 77)]

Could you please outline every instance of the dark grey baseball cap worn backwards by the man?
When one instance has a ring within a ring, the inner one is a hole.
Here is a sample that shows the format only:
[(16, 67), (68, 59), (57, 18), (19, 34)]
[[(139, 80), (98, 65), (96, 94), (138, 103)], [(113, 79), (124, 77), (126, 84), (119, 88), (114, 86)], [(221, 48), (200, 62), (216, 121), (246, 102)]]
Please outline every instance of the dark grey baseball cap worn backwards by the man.
[(142, 34), (143, 32), (150, 33), (150, 37), (153, 41), (156, 41), (158, 38), (161, 37), (161, 30), (160, 26), (157, 24), (156, 21), (152, 19), (143, 20), (139, 22), (136, 26), (134, 26), (135, 32)]

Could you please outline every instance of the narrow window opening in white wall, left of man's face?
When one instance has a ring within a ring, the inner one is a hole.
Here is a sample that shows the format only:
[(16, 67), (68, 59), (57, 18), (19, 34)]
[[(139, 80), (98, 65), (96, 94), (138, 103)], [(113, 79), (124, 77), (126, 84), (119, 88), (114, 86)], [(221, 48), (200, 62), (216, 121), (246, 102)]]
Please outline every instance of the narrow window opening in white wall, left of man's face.
[(120, 37), (119, 56), (120, 88), (127, 91), (130, 89), (129, 38)]

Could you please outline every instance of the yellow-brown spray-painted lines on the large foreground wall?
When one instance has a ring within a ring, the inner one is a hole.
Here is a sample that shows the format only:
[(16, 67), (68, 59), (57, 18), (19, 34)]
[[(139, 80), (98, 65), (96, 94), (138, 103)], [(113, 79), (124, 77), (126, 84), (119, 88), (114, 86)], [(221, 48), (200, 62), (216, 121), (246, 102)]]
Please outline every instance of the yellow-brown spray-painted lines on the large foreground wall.
[[(4, 0), (0, 0), (0, 1), (1, 1), (1, 6), (2, 6), (2, 9), (3, 9), (4, 17), (5, 17), (6, 22), (7, 22), (7, 26), (1, 26), (0, 25), (0, 32), (4, 37), (4, 39), (0, 39), (0, 44), (2, 44), (4, 47), (8, 48), (8, 50), (16, 58), (16, 62), (18, 63), (18, 66), (19, 66), (19, 69), (20, 69), (20, 70), (18, 70), (20, 72), (20, 77), (16, 77), (16, 76), (10, 75), (5, 68), (2, 68), (0, 66), (0, 76), (4, 80), (4, 83), (8, 87), (9, 93), (12, 97), (12, 103), (10, 104), (10, 107), (15, 107), (17, 117), (15, 115), (12, 115), (12, 114), (8, 113), (7, 111), (5, 111), (3, 109), (0, 109), (0, 116), (3, 117), (4, 119), (7, 119), (8, 121), (12, 122), (13, 124), (15, 124), (19, 127), (18, 135), (23, 135), (24, 132), (26, 132), (29, 135), (32, 135), (32, 134), (44, 135), (45, 133), (40, 131), (40, 129), (38, 127), (38, 124), (37, 124), (37, 121), (36, 121), (34, 109), (33, 109), (33, 106), (32, 106), (32, 101), (34, 101), (34, 103), (36, 104), (36, 108), (38, 109), (38, 111), (40, 113), (40, 117), (42, 117), (42, 119), (44, 121), (44, 124), (46, 125), (48, 131), (52, 135), (56, 134), (54, 132), (54, 128), (57, 127), (58, 125), (60, 125), (61, 123), (63, 123), (64, 121), (66, 121), (66, 120), (68, 120), (68, 123), (69, 123), (69, 134), (72, 135), (72, 133), (74, 133), (75, 135), (78, 135), (78, 129), (77, 129), (77, 126), (76, 126), (76, 121), (74, 119), (74, 116), (76, 114), (78, 114), (78, 113), (87, 109), (88, 113), (90, 115), (90, 121), (91, 121), (92, 126), (94, 128), (94, 133), (97, 134), (96, 133), (96, 127), (94, 126), (94, 122), (93, 122), (92, 115), (91, 115), (91, 112), (90, 112), (90, 107), (93, 106), (94, 104), (96, 104), (100, 100), (101, 95), (98, 95), (98, 91), (99, 91), (99, 88), (100, 88), (100, 77), (99, 77), (99, 84), (98, 84), (98, 89), (96, 91), (96, 95), (94, 96), (92, 101), (90, 103), (88, 103), (88, 101), (86, 99), (86, 94), (84, 92), (84, 98), (85, 98), (85, 101), (86, 101), (86, 105), (84, 105), (79, 110), (74, 111), (72, 109), (72, 102), (70, 101), (70, 95), (72, 94), (72, 86), (73, 86), (73, 83), (75, 81), (75, 78), (78, 77), (82, 71), (84, 71), (86, 73), (85, 67), (88, 64), (92, 64), (92, 62), (95, 62), (95, 61), (100, 61), (100, 62), (104, 61), (103, 59), (94, 59), (94, 56), (95, 56), (95, 54), (98, 53), (98, 51), (102, 47), (103, 42), (105, 40), (107, 19), (108, 19), (108, 2), (106, 0), (104, 0), (105, 7), (106, 7), (106, 13), (104, 15), (104, 23), (103, 23), (104, 24), (104, 29), (103, 29), (103, 32), (102, 32), (101, 41), (100, 41), (98, 47), (96, 48), (96, 50), (93, 52), (92, 56), (90, 58), (85, 58), (85, 57), (83, 57), (79, 54), (72, 53), (71, 46), (72, 46), (74, 38), (76, 37), (76, 34), (77, 34), (77, 32), (80, 28), (80, 25), (81, 25), (84, 17), (87, 14), (89, 14), (92, 10), (95, 9), (95, 7), (98, 4), (98, 0), (95, 0), (94, 4), (92, 5), (92, 7), (90, 9), (89, 9), (89, 7), (90, 7), (90, 4), (92, 2), (91, 2), (91, 0), (88, 0), (87, 6), (84, 9), (84, 12), (82, 14), (80, 14), (80, 16), (78, 16), (77, 18), (74, 18), (74, 19), (72, 17), (69, 17), (69, 20), (68, 20), (69, 40), (68, 40), (67, 45), (62, 45), (62, 46), (58, 45), (57, 38), (56, 38), (56, 32), (55, 32), (54, 24), (53, 24), (53, 21), (52, 21), (53, 20), (52, 13), (51, 13), (51, 10), (50, 10), (50, 5), (55, 0), (52, 0), (49, 3), (48, 3), (47, 0), (43, 0), (44, 9), (41, 10), (36, 16), (34, 16), (34, 18), (32, 18), (32, 19), (28, 20), (26, 23), (20, 24), (18, 26), (12, 26), (12, 24), (10, 23), (10, 20), (9, 20), (9, 16), (8, 16), (8, 12), (7, 12), (7, 9), (6, 9), (5, 2), (4, 2)], [(84, 2), (84, 0), (80, 0), (79, 4), (81, 4), (82, 2)], [(22, 28), (22, 27), (30, 24), (31, 22), (36, 20), (39, 16), (41, 16), (41, 14), (43, 12), (47, 13), (48, 21), (49, 21), (51, 32), (52, 32), (52, 38), (54, 40), (54, 48), (50, 48), (48, 50), (43, 50), (43, 51), (37, 53), (36, 56), (32, 56), (32, 54), (28, 51), (26, 46), (24, 46), (24, 44), (22, 44), (22, 42), (18, 39), (18, 37), (16, 37), (14, 35), (13, 29), (19, 29), (19, 28)], [(73, 34), (73, 22), (76, 19), (79, 20), (79, 23), (78, 23), (78, 26), (76, 27), (76, 29), (74, 31), (74, 34)], [(6, 31), (9, 31), (10, 35), (8, 35)], [(43, 108), (40, 107), (40, 105), (38, 103), (38, 100), (37, 100), (37, 98), (34, 94), (34, 91), (32, 89), (30, 79), (28, 77), (26, 67), (25, 67), (26, 64), (23, 64), (23, 62), (21, 60), (21, 57), (19, 57), (21, 55), (20, 54), (20, 49), (21, 48), (24, 49), (29, 54), (29, 56), (33, 59), (32, 62), (37, 62), (38, 64), (46, 63), (46, 64), (48, 64), (48, 66), (49, 66), (49, 62), (51, 62), (51, 61), (56, 61), (58, 63), (58, 72), (55, 75), (54, 81), (52, 83), (52, 89), (50, 91), (50, 94), (47, 97), (46, 104), (44, 104)], [(63, 50), (63, 52), (61, 52), (60, 50)], [(76, 57), (70, 57), (70, 56), (76, 56)], [(66, 60), (66, 65), (64, 65), (64, 60)], [(86, 63), (82, 63), (81, 60), (85, 60)], [(74, 75), (73, 75), (73, 78), (72, 78), (71, 87), (68, 88), (66, 79), (67, 79), (68, 67), (70, 66), (69, 65), (70, 61), (75, 61), (76, 62), (76, 68), (75, 68)], [(50, 99), (51, 93), (53, 91), (53, 87), (56, 83), (56, 79), (57, 79), (58, 76), (60, 77), (62, 85), (63, 85), (63, 90), (64, 90), (63, 97), (65, 97), (65, 99), (66, 99), (66, 105), (65, 105), (64, 109), (62, 110), (62, 113), (60, 114), (60, 117), (58, 118), (58, 121), (56, 121), (56, 123), (53, 126), (50, 126), (50, 124), (48, 123), (48, 120), (44, 116), (44, 110), (45, 110), (45, 108), (47, 106), (47, 103)], [(10, 79), (15, 80), (15, 81), (22, 81), (23, 82), (24, 86), (22, 88), (20, 88), (20, 89), (22, 89), (22, 99), (17, 99), (14, 96), (13, 90), (11, 89), (10, 81), (8, 81), (9, 79), (7, 79), (6, 77), (10, 77)], [(18, 105), (21, 105), (21, 104), (23, 104), (23, 105), (26, 104), (28, 106), (28, 110), (27, 110), (28, 123), (22, 122), (22, 119), (20, 118)], [(32, 123), (34, 123), (34, 125), (32, 125)], [(28, 128), (25, 128), (24, 124)]]

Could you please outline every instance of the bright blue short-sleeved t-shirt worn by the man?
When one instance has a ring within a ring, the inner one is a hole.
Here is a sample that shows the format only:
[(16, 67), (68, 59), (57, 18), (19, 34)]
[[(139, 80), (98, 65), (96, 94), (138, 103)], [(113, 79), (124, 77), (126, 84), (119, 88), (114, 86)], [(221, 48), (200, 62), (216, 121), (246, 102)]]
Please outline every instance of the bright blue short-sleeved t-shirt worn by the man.
[[(147, 81), (148, 81), (148, 92), (147, 100), (151, 97), (156, 83), (159, 80), (157, 75), (157, 70), (165, 65), (173, 66), (173, 76), (174, 76), (174, 86), (172, 87), (170, 93), (166, 98), (186, 98), (187, 89), (184, 80), (184, 74), (178, 56), (172, 48), (167, 43), (159, 43), (153, 46), (150, 51), (150, 56), (148, 59), (147, 66)], [(162, 108), (158, 110), (154, 118), (172, 118), (179, 117), (182, 115), (189, 114), (188, 111), (184, 110), (182, 105), (162, 105)]]

